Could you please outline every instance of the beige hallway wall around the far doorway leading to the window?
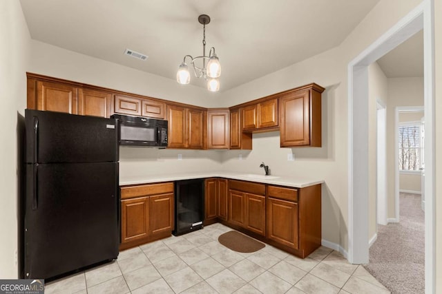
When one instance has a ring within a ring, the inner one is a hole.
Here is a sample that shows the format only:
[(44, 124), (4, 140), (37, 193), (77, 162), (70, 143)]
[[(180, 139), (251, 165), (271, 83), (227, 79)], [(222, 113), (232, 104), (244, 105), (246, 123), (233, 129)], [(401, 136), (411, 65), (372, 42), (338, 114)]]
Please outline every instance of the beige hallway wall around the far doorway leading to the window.
[(396, 144), (395, 115), (399, 106), (423, 106), (423, 78), (388, 78), (387, 98), (387, 218), (396, 218), (394, 183), (396, 167), (394, 163)]

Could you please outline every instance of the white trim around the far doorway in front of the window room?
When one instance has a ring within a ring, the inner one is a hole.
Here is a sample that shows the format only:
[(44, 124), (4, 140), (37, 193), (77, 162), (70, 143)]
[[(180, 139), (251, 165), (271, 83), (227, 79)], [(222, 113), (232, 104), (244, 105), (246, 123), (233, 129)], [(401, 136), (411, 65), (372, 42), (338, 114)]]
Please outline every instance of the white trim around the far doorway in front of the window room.
[(394, 110), (394, 220), (390, 222), (399, 222), (399, 113), (401, 112), (424, 112), (423, 106), (398, 106)]

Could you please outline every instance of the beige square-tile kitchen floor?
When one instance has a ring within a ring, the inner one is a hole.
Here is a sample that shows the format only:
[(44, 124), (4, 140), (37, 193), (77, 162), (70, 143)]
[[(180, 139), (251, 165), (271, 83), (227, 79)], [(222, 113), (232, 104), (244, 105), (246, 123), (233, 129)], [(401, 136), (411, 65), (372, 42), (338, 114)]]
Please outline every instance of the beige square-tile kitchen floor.
[(45, 293), (390, 293), (327, 247), (304, 260), (269, 245), (238, 253), (218, 242), (230, 230), (212, 224), (122, 251), (116, 262), (48, 283)]

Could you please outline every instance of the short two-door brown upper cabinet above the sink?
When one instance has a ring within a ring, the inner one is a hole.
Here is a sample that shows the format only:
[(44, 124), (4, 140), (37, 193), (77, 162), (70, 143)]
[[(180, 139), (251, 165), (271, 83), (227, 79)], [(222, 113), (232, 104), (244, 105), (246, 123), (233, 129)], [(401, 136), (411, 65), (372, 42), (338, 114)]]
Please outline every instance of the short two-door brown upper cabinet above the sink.
[(242, 107), (242, 131), (278, 127), (278, 98)]

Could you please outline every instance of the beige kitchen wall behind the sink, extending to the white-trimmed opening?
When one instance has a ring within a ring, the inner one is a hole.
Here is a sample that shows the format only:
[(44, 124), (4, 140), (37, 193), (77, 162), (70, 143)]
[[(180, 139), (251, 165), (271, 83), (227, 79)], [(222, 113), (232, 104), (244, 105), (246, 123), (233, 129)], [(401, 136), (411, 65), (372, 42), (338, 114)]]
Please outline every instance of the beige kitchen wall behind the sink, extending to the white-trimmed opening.
[[(253, 135), (253, 151), (243, 155), (240, 165), (237, 154), (229, 152), (225, 154), (223, 167), (256, 172), (259, 171), (257, 163), (259, 165), (260, 161), (269, 158), (269, 162), (265, 162), (273, 167), (274, 174), (318, 176), (325, 179), (323, 239), (339, 244), (345, 250), (348, 238), (347, 65), (419, 3), (421, 1), (380, 1), (338, 48), (223, 94), (225, 105), (234, 105), (311, 81), (326, 87), (327, 90), (323, 93), (323, 112), (327, 116), (323, 117), (325, 142), (322, 148), (293, 148), (291, 151), (295, 160), (287, 162), (289, 150), (278, 149), (277, 132), (267, 136), (257, 134)], [(330, 135), (332, 136), (329, 138)], [(260, 147), (256, 149), (256, 146)], [(271, 156), (265, 146), (275, 148)]]

